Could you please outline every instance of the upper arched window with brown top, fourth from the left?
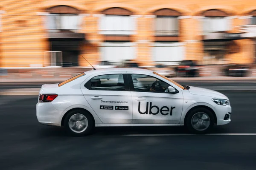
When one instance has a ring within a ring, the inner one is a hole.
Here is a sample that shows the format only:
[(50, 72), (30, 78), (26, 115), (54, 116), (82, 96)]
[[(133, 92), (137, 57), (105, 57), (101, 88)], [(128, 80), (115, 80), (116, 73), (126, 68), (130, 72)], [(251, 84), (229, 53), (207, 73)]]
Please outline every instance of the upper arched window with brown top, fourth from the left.
[(228, 14), (218, 9), (210, 9), (202, 13), (204, 17), (203, 32), (209, 34), (218, 31), (229, 30), (229, 18)]

